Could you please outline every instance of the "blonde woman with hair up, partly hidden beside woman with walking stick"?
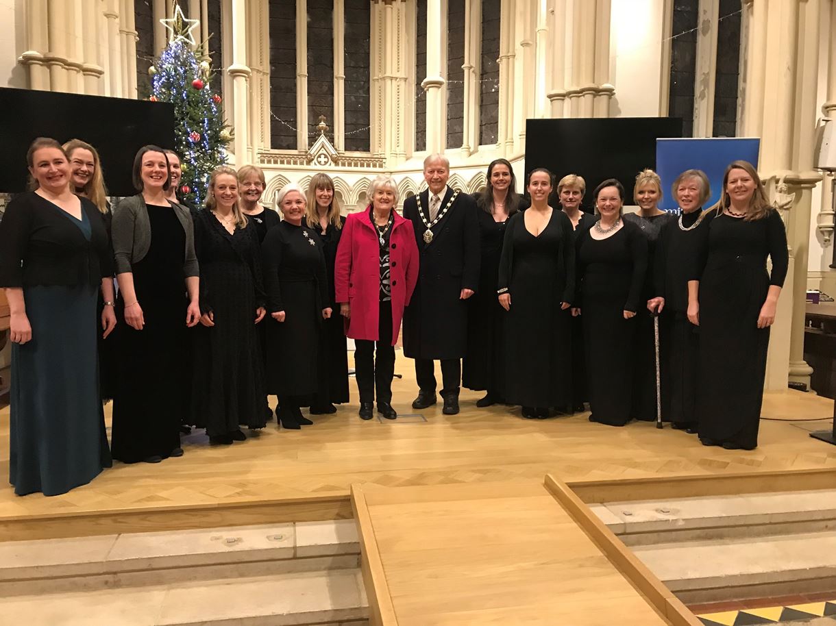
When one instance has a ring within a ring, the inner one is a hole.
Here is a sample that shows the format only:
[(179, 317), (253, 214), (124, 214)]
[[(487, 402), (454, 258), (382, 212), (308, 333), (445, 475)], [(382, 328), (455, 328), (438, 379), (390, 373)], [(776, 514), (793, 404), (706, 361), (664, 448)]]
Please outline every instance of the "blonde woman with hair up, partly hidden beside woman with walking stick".
[[(654, 259), (656, 242), (662, 228), (673, 221), (675, 216), (659, 208), (662, 200), (662, 181), (653, 170), (642, 170), (635, 177), (633, 199), (639, 205), (639, 211), (624, 216), (624, 221), (632, 221), (639, 226), (647, 239), (647, 267), (645, 282), (641, 288), (641, 299), (648, 303), (655, 298)], [(640, 306), (635, 316), (635, 335), (633, 337), (633, 417), (636, 420), (655, 421), (656, 419), (656, 350), (654, 314), (646, 306)], [(662, 360), (666, 359), (668, 346), (667, 318), (659, 320), (659, 343)], [(662, 381), (663, 389), (667, 389)], [(666, 403), (662, 397), (662, 406)], [(665, 419), (667, 417), (665, 416)]]

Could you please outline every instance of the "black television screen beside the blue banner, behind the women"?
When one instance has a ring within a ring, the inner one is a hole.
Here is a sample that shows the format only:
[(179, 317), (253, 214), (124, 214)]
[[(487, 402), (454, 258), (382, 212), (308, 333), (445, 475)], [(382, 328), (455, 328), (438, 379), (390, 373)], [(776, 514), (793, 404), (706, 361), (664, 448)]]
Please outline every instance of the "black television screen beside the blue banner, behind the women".
[(682, 120), (670, 117), (528, 120), (526, 180), (534, 168), (548, 168), (555, 176), (556, 192), (563, 176), (583, 176), (584, 210), (592, 211), (595, 187), (615, 178), (624, 185), (624, 204), (633, 204), (635, 175), (656, 167), (656, 140), (681, 136)]

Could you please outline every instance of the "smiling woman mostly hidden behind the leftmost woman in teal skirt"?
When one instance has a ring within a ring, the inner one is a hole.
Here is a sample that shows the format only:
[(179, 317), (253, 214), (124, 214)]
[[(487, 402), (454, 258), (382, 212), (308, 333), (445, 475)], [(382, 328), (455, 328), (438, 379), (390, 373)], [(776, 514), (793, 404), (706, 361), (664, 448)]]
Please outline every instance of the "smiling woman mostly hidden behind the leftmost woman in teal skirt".
[[(79, 139), (69, 140), (64, 144), (64, 151), (69, 159), (69, 166), (72, 170), (71, 184), (76, 196), (87, 198), (93, 202), (104, 222), (104, 230), (107, 231), (108, 246), (110, 242), (110, 224), (113, 221), (113, 213), (110, 211), (110, 202), (107, 201), (107, 189), (104, 187), (104, 172), (101, 168), (99, 153), (86, 141)], [(110, 263), (113, 267), (113, 263)], [(111, 277), (111, 283), (113, 278)], [(104, 299), (99, 292), (99, 317), (104, 311)], [(111, 313), (113, 307), (110, 308)], [(99, 389), (102, 400), (105, 402), (113, 397), (115, 385), (115, 339), (111, 336), (105, 339), (99, 335)]]

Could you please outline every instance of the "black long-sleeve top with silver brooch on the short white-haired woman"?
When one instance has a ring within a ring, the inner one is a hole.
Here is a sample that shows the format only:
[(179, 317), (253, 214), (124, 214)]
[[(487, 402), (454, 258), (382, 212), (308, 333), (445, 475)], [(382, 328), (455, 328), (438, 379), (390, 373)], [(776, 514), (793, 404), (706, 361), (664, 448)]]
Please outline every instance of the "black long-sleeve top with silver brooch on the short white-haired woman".
[(269, 313), (284, 310), (283, 282), (316, 282), (319, 302), (323, 308), (330, 306), (322, 244), (308, 226), (287, 220), (273, 226), (264, 237), (262, 258)]

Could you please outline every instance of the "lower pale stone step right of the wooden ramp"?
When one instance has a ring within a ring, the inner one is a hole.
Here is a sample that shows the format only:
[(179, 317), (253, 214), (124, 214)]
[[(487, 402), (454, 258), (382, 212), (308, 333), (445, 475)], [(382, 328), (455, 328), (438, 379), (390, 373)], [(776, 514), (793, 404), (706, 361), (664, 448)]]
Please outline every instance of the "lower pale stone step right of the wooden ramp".
[(633, 547), (685, 603), (836, 590), (836, 532)]

